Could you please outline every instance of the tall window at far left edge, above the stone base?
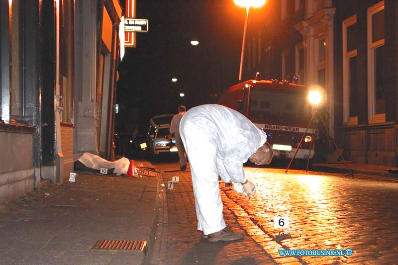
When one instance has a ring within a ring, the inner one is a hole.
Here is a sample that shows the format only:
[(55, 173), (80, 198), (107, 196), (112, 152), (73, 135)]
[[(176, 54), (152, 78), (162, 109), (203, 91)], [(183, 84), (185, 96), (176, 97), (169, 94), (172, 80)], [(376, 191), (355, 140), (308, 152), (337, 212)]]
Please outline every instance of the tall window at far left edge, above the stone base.
[(0, 122), (33, 125), (34, 86), (26, 84), (31, 77), (27, 64), (32, 56), (26, 28), (30, 15), (23, 0), (0, 2)]

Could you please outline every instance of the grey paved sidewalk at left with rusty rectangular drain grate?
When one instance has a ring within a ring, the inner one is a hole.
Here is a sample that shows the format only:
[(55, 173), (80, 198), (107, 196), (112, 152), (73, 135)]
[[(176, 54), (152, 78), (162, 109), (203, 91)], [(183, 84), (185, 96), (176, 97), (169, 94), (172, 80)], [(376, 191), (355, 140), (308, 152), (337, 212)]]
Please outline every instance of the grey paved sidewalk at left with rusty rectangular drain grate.
[[(145, 161), (135, 166), (152, 167)], [(139, 174), (78, 173), (76, 182), (68, 178), (0, 205), (0, 264), (148, 263), (159, 181), (152, 172)]]

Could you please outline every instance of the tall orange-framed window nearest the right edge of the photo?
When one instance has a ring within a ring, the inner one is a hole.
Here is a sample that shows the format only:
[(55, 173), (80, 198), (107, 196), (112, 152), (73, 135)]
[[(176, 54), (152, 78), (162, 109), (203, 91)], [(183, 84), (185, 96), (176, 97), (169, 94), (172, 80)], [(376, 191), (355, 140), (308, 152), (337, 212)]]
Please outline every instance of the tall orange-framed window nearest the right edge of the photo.
[(368, 120), (386, 121), (384, 1), (368, 8)]

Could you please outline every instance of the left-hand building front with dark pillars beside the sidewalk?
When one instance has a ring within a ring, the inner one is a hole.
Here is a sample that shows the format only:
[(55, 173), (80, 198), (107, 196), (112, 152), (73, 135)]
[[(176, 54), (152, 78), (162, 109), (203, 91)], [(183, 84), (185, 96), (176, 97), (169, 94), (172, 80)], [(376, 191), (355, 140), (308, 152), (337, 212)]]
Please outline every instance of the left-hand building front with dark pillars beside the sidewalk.
[(0, 0), (0, 200), (111, 157), (118, 0)]

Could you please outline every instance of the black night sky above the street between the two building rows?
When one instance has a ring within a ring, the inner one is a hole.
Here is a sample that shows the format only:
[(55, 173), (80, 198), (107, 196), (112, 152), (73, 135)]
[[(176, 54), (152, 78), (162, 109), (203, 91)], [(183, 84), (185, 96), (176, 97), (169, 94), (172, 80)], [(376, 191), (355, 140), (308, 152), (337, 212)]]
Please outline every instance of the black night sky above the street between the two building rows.
[(136, 0), (136, 18), (149, 31), (136, 33), (118, 69), (116, 131), (142, 133), (152, 116), (215, 103), (211, 94), (238, 83), (245, 8), (233, 0)]

